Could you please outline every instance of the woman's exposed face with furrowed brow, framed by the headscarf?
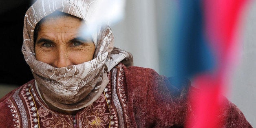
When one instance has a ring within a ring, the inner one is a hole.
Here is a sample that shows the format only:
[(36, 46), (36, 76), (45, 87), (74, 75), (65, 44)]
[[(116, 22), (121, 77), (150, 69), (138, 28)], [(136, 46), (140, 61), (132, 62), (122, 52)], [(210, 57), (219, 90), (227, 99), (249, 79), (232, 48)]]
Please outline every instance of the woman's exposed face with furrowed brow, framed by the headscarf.
[(81, 19), (71, 16), (46, 18), (38, 29), (36, 60), (57, 68), (92, 60), (95, 45), (78, 36), (81, 24)]

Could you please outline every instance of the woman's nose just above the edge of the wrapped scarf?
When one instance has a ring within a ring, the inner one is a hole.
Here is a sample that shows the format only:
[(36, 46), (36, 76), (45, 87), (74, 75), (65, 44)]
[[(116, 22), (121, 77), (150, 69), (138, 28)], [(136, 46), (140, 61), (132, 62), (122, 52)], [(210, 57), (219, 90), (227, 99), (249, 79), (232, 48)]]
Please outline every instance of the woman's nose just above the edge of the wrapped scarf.
[(64, 51), (59, 51), (56, 54), (55, 58), (56, 59), (55, 59), (55, 62), (53, 64), (56, 68), (61, 68), (61, 67), (66, 67), (66, 66), (72, 65), (71, 61), (68, 59), (67, 53), (64, 52)]

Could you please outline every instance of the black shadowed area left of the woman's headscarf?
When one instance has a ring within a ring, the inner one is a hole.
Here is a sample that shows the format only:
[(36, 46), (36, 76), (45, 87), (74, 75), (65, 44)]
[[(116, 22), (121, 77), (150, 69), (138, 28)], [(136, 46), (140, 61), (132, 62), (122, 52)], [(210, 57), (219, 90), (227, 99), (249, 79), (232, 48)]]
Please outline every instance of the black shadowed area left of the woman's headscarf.
[(21, 86), (33, 79), (21, 52), (24, 15), (30, 5), (30, 0), (0, 2), (0, 84)]

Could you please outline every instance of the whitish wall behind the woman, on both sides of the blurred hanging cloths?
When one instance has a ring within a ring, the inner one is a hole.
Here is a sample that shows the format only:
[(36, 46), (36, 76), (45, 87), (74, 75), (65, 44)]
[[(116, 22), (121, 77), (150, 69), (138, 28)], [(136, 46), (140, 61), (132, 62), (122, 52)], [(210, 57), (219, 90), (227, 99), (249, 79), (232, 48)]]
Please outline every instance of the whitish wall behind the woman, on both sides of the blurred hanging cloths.
[[(161, 24), (159, 18), (172, 20), (175, 13), (174, 2), (170, 0), (126, 0), (125, 19), (112, 27), (115, 36), (115, 46), (129, 51), (134, 56), (134, 65), (153, 68), (159, 74), (170, 76), (163, 68), (159, 68), (159, 45), (170, 42), (172, 37), (159, 38), (159, 34), (172, 31)], [(241, 63), (234, 69), (234, 76), (227, 96), (242, 110), (252, 126), (256, 127), (256, 1), (249, 6), (245, 18), (245, 33)], [(166, 11), (166, 9), (169, 11)], [(174, 10), (174, 9), (173, 9)], [(170, 13), (171, 12), (171, 13)], [(171, 44), (169, 44), (171, 45)], [(164, 66), (164, 65), (161, 65)], [(164, 68), (171, 66), (164, 66)], [(169, 70), (170, 71), (170, 70)]]

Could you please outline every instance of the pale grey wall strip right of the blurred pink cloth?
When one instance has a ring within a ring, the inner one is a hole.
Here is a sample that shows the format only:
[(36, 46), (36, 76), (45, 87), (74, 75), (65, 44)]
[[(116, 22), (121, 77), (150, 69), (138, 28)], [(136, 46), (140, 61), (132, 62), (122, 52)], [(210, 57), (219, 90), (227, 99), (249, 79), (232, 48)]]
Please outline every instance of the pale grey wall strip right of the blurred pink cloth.
[(234, 70), (230, 100), (256, 127), (256, 1), (249, 3), (244, 19), (241, 61)]

